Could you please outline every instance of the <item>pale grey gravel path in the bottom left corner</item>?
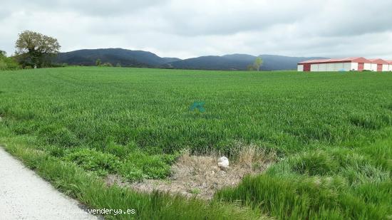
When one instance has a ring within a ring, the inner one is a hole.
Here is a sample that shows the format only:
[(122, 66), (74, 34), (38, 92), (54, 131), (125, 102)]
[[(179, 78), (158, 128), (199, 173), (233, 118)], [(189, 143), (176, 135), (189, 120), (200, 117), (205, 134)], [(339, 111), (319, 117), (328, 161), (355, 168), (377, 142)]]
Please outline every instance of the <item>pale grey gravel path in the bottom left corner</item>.
[(0, 147), (0, 219), (98, 219)]

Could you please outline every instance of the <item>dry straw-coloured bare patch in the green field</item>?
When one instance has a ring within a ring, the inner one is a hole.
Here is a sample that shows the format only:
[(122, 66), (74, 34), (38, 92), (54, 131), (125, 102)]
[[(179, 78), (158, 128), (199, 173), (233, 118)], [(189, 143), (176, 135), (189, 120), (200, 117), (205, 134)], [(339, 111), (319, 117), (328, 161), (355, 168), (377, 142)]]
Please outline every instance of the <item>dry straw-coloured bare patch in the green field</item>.
[(212, 199), (222, 187), (235, 186), (247, 174), (260, 174), (276, 159), (276, 154), (247, 148), (240, 152), (235, 162), (227, 169), (217, 166), (217, 156), (196, 156), (183, 154), (172, 165), (172, 174), (168, 179), (145, 179), (143, 182), (124, 183), (120, 177), (109, 175), (107, 184), (119, 184), (140, 192), (169, 192), (186, 197)]

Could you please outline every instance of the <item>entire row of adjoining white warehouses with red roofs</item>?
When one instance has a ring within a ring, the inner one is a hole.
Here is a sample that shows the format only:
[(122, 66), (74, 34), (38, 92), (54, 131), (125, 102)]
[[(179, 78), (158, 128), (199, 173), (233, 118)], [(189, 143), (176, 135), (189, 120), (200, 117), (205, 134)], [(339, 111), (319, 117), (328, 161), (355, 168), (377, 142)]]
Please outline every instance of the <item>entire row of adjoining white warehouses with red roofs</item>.
[(382, 59), (368, 60), (363, 57), (343, 59), (311, 60), (298, 63), (299, 72), (325, 72), (325, 71), (388, 71), (391, 70), (391, 62)]

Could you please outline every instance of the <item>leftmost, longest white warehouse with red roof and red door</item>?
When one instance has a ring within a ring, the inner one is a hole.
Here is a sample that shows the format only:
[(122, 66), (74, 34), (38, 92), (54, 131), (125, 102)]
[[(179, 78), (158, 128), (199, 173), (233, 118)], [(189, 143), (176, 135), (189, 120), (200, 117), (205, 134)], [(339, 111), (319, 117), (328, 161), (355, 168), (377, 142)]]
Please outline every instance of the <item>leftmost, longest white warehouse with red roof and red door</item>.
[(326, 71), (362, 71), (371, 70), (371, 61), (363, 57), (342, 59), (324, 59), (303, 61), (298, 63), (298, 71), (326, 72)]

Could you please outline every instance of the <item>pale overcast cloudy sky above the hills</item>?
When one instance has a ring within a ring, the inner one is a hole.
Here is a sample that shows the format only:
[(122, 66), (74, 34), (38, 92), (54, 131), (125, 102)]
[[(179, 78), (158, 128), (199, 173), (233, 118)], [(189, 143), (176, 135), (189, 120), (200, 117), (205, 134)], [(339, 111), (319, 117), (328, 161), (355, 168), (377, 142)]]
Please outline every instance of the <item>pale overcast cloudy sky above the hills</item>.
[(0, 0), (0, 50), (14, 53), (25, 30), (57, 38), (62, 52), (392, 60), (391, 0)]

